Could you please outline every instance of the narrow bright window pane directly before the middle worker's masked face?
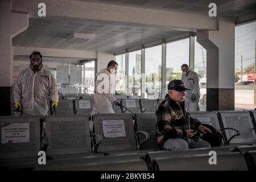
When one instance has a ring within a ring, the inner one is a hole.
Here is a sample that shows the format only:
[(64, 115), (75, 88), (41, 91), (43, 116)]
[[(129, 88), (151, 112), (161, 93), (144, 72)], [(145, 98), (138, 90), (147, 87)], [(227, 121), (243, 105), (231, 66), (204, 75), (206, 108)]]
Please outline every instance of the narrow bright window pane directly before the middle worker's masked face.
[(124, 96), (126, 93), (125, 53), (115, 56), (115, 61), (118, 63), (117, 74), (115, 75), (115, 94)]

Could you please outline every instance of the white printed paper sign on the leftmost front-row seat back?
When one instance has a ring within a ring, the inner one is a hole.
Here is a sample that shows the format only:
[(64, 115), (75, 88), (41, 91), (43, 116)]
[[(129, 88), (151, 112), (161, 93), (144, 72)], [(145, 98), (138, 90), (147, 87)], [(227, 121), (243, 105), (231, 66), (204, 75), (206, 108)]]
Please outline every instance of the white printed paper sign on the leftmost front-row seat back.
[(30, 142), (30, 123), (11, 123), (2, 127), (1, 143)]

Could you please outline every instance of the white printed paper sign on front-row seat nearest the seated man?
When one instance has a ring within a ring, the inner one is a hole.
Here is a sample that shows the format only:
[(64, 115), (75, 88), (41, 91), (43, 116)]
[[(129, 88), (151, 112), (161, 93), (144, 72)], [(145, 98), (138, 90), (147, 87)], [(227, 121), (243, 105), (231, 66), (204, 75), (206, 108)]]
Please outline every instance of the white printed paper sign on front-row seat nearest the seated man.
[(104, 120), (102, 126), (106, 138), (126, 137), (125, 121), (123, 120)]

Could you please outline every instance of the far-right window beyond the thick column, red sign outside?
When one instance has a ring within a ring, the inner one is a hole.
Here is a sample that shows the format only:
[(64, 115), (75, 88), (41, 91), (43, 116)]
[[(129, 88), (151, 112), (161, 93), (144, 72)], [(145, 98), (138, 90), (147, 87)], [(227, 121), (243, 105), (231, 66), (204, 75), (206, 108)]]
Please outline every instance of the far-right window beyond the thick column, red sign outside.
[(255, 81), (250, 72), (255, 72), (256, 22), (235, 28), (235, 109), (251, 110), (256, 107)]

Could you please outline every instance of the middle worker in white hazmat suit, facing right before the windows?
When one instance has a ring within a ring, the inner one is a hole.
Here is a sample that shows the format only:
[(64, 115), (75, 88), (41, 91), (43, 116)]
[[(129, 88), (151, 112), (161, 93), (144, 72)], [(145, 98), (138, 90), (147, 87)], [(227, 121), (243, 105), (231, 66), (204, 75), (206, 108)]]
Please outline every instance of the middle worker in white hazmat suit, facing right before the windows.
[(97, 80), (95, 84), (94, 106), (92, 110), (92, 115), (98, 113), (115, 113), (112, 104), (117, 106), (119, 105), (118, 101), (113, 95), (115, 91), (114, 74), (117, 73), (117, 68), (117, 62), (112, 60), (109, 62), (106, 69), (101, 69), (101, 71), (96, 74)]

